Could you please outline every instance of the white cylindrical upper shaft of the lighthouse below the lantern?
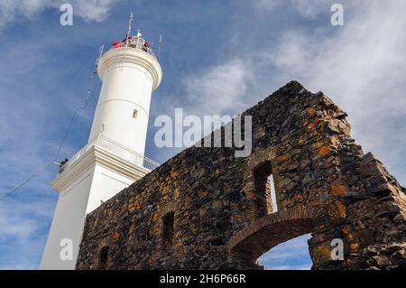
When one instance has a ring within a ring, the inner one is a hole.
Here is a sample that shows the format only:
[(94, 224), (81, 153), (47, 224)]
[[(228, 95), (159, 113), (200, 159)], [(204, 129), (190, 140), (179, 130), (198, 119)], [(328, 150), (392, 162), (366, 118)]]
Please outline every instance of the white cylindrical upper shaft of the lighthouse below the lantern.
[(143, 155), (151, 95), (161, 81), (158, 61), (144, 51), (119, 48), (106, 52), (98, 67), (103, 85), (88, 141), (101, 132)]

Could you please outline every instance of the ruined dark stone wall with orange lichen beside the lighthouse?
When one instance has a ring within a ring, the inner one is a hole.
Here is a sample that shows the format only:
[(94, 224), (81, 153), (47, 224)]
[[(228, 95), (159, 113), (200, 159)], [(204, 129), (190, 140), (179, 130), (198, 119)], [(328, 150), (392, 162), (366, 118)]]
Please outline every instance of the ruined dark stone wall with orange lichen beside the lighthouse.
[[(406, 266), (405, 190), (355, 144), (345, 112), (292, 81), (244, 116), (249, 157), (190, 147), (163, 163), (88, 215), (77, 269), (260, 269), (260, 255), (307, 233), (313, 269)], [(334, 238), (344, 261), (331, 259)]]

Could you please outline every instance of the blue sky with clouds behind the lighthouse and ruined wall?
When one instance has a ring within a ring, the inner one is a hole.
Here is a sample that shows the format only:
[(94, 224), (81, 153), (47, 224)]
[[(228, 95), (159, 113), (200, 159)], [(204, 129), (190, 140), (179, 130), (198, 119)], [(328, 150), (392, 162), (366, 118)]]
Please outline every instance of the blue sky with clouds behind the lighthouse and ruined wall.
[[(333, 3), (345, 25), (329, 22)], [(61, 26), (70, 3), (74, 24)], [(146, 155), (163, 163), (179, 149), (153, 144), (156, 116), (236, 115), (291, 79), (322, 90), (349, 114), (353, 135), (406, 182), (406, 2), (329, 0), (0, 2), (0, 197), (49, 163), (83, 104), (98, 47), (121, 40), (128, 15), (152, 44), (163, 34), (161, 87), (152, 96)], [(100, 82), (63, 145), (87, 143)], [(0, 269), (38, 268), (57, 195), (56, 167), (0, 202)], [(272, 249), (262, 264), (309, 268), (306, 238)], [(300, 255), (291, 257), (291, 255)]]

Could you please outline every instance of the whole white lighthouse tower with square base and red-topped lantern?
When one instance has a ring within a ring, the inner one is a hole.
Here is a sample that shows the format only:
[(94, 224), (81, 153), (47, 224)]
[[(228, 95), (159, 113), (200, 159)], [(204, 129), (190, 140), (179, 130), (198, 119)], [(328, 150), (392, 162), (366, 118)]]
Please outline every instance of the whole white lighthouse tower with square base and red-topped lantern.
[(130, 31), (98, 61), (103, 84), (88, 144), (51, 181), (59, 200), (41, 269), (74, 269), (88, 213), (157, 166), (143, 153), (161, 65), (142, 34)]

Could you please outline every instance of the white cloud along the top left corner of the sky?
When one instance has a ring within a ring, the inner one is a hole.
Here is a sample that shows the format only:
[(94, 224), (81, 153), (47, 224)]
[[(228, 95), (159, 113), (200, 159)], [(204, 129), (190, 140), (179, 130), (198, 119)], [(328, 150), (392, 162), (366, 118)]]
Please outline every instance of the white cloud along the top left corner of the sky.
[[(101, 22), (108, 16), (114, 0), (2, 0), (0, 2), (0, 29), (14, 22), (16, 18), (23, 17), (32, 19), (43, 11), (69, 3), (73, 6), (74, 17), (85, 21)], [(75, 14), (76, 13), (76, 14)]]

